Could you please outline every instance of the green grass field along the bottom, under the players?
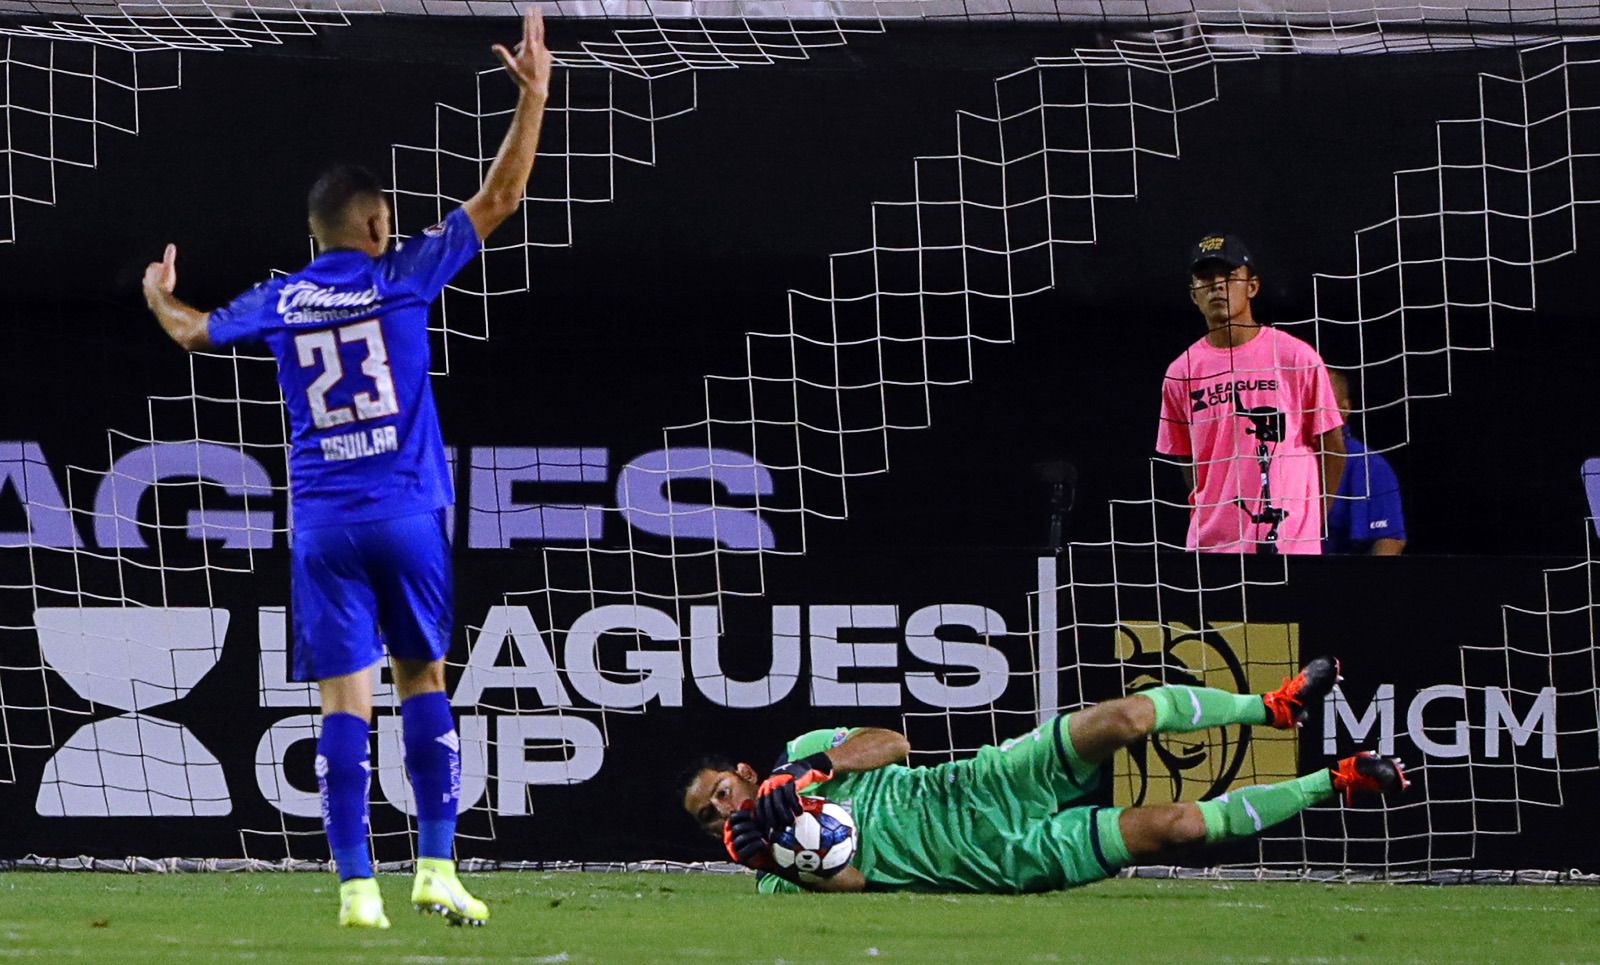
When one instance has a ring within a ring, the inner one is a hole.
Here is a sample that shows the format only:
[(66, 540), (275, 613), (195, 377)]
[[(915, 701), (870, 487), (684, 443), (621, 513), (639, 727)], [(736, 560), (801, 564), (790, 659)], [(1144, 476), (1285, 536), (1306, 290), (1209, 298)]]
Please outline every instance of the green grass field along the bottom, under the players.
[(488, 874), (486, 928), (325, 874), (0, 875), (0, 959), (38, 962), (1597, 962), (1600, 888), (1102, 882), (1032, 896), (760, 896), (744, 875)]

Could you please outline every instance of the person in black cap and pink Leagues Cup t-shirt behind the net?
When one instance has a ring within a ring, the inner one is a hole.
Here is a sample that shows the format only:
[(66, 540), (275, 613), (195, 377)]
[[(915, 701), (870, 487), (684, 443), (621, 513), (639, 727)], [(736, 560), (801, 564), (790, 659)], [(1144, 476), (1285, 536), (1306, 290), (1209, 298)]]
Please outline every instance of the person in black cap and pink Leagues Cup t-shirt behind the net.
[(1211, 234), (1190, 256), (1189, 298), (1205, 338), (1162, 384), (1155, 451), (1189, 482), (1189, 535), (1202, 552), (1322, 552), (1326, 493), (1344, 469), (1344, 416), (1328, 366), (1301, 339), (1251, 314), (1250, 251)]

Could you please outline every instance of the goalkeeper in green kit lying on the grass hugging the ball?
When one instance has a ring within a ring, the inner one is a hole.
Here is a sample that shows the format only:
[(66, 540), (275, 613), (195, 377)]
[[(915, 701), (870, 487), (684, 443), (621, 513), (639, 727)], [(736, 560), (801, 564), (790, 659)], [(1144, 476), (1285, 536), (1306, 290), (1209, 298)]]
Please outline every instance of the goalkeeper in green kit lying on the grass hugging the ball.
[[(1296, 728), (1338, 679), (1339, 663), (1323, 656), (1267, 695), (1157, 687), (938, 767), (904, 767), (910, 744), (891, 730), (816, 730), (790, 741), (765, 781), (747, 763), (709, 755), (678, 787), (690, 816), (734, 861), (762, 872), (762, 891), (1048, 891), (1258, 834), (1339, 792), (1403, 791), (1400, 762), (1368, 752), (1200, 803), (1075, 803), (1094, 789), (1101, 765), (1139, 738), (1237, 723)], [(856, 853), (834, 877), (802, 882), (773, 863), (771, 840), (800, 813), (800, 794), (837, 802), (856, 821)]]

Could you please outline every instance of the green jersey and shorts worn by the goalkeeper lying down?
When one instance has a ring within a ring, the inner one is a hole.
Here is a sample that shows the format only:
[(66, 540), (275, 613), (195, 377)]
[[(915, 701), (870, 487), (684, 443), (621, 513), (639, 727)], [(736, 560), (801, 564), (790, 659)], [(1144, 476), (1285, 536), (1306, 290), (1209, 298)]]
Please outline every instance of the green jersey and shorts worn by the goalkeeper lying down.
[[(838, 747), (853, 730), (802, 735), (789, 741), (779, 763)], [(1115, 871), (1098, 842), (1075, 848), (1077, 855), (1043, 853), (1053, 847), (1042, 847), (1042, 821), (1051, 821), (1059, 803), (1029, 767), (1064, 773), (1058, 767), (1064, 749), (1050, 746), (1053, 736), (1034, 731), (1002, 747), (984, 747), (974, 759), (936, 767), (890, 765), (838, 775), (803, 794), (826, 797), (851, 813), (856, 853), (850, 863), (872, 888), (1014, 893), (1098, 880)], [(1101, 808), (1077, 810), (1093, 826), (1093, 811)], [(800, 890), (773, 874), (760, 875), (758, 887), (768, 893)]]

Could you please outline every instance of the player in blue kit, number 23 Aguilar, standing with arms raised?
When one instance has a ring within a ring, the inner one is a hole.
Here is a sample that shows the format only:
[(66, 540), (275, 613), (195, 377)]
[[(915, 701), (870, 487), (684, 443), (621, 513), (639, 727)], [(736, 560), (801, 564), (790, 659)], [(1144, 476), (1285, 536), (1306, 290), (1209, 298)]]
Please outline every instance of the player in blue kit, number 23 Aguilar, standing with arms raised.
[(294, 677), (317, 680), (317, 786), (339, 871), (339, 923), (387, 928), (366, 843), (373, 667), (387, 645), (405, 767), (418, 807), (411, 901), (454, 925), (488, 907), (456, 877), (461, 752), (445, 695), (454, 624), (445, 520), (454, 499), (427, 378), (427, 312), (483, 238), (522, 205), (550, 94), (538, 10), (522, 42), (494, 45), (517, 109), (483, 186), (443, 222), (389, 248), (389, 203), (362, 168), (310, 190), (320, 254), (304, 269), (200, 312), (173, 296), (176, 246), (144, 272), (144, 298), (189, 350), (266, 344), (290, 411)]

